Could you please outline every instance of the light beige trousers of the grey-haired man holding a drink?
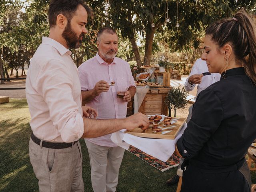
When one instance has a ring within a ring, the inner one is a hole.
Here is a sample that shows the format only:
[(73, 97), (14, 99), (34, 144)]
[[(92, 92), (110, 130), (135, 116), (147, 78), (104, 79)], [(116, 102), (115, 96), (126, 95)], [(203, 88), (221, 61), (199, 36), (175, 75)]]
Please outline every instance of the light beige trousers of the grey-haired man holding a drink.
[(93, 191), (115, 192), (124, 149), (119, 146), (100, 146), (88, 140), (85, 140), (85, 143), (90, 156)]

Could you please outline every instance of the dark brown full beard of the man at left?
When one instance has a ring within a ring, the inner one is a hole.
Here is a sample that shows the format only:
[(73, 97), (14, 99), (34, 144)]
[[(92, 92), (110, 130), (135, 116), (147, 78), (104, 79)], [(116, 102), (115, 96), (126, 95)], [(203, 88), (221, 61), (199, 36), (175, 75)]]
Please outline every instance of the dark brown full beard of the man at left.
[(81, 33), (77, 38), (76, 33), (72, 30), (70, 22), (68, 21), (67, 26), (65, 27), (64, 31), (62, 32), (62, 37), (66, 40), (68, 44), (68, 48), (70, 49), (77, 49), (81, 46), (82, 40), (81, 37), (84, 37), (84, 34)]

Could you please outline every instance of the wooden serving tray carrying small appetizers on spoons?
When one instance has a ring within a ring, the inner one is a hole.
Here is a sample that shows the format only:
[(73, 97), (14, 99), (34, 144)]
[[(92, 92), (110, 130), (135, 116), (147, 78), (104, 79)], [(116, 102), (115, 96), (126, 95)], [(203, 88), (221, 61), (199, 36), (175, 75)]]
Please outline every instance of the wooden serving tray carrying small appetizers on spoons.
[[(167, 132), (166, 134), (155, 134), (152, 132), (152, 128), (148, 128), (147, 130), (142, 130), (141, 128), (135, 128), (131, 131), (126, 131), (125, 133), (132, 134), (138, 137), (173, 140), (176, 138), (178, 132), (180, 131), (180, 129), (182, 128), (185, 122), (186, 122), (186, 118), (179, 118), (176, 123), (172, 124), (172, 125), (176, 125), (176, 127), (172, 128), (171, 132)], [(162, 121), (159, 126), (163, 126), (163, 124), (164, 124), (164, 121)], [(164, 131), (167, 131), (167, 130), (168, 129)]]

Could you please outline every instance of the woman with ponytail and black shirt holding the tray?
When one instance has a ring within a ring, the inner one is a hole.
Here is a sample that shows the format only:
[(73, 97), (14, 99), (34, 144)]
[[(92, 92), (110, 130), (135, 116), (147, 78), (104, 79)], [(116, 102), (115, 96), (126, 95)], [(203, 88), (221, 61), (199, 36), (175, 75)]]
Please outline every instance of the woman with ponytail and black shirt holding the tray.
[(256, 36), (238, 12), (206, 30), (205, 60), (221, 80), (200, 92), (176, 144), (185, 158), (182, 192), (250, 192), (244, 156), (256, 138)]

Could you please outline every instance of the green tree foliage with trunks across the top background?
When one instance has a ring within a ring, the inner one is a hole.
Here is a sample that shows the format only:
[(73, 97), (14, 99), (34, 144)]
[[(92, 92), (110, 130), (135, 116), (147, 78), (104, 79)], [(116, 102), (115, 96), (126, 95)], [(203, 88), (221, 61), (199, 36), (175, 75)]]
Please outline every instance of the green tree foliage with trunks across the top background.
[[(1, 55), (11, 52), (10, 55), (16, 56), (22, 49), (23, 53), (20, 55), (26, 57), (24, 60), (29, 63), (42, 42), (42, 36), (49, 34), (49, 2), (50, 0), (0, 1)], [(120, 47), (119, 56), (128, 60), (135, 58), (140, 66), (142, 61), (145, 65), (150, 64), (152, 53), (159, 49), (158, 41), (167, 42), (171, 50), (182, 50), (190, 46), (196, 48), (208, 24), (230, 17), (242, 7), (254, 12), (256, 0), (167, 0), (168, 6), (166, 0), (109, 0), (107, 8), (105, 0), (86, 2), (95, 13), (93, 20), (88, 23), (89, 34), (84, 38), (82, 47), (72, 50), (76, 65), (79, 66), (98, 51), (95, 38), (97, 30), (112, 26), (122, 36), (120, 44), (125, 46)], [(26, 12), (21, 12), (21, 8), (25, 8)], [(171, 22), (165, 26), (167, 10)], [(177, 22), (180, 24), (178, 28)], [(143, 38), (143, 47), (136, 43), (139, 37)], [(8, 56), (3, 55), (4, 60), (5, 58)]]

